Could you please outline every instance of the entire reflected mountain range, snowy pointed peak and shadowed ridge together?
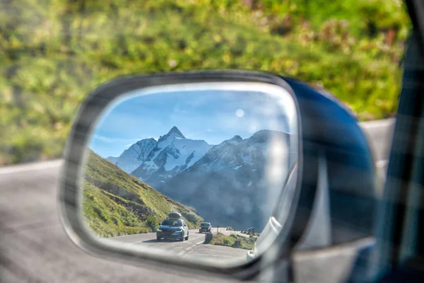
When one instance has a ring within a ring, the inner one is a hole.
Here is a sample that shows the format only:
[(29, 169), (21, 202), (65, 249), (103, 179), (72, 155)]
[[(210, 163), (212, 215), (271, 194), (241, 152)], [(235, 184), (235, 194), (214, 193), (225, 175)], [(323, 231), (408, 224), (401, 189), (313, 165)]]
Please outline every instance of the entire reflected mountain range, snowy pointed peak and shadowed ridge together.
[[(194, 207), (213, 226), (261, 229), (272, 209), (270, 196), (281, 190), (284, 172), (293, 163), (288, 160), (289, 137), (284, 132), (260, 130), (247, 139), (235, 135), (212, 146), (186, 139), (172, 127), (158, 141), (143, 139), (108, 160), (168, 197)], [(276, 141), (278, 150), (272, 151)], [(270, 166), (275, 161), (283, 168), (272, 177)]]

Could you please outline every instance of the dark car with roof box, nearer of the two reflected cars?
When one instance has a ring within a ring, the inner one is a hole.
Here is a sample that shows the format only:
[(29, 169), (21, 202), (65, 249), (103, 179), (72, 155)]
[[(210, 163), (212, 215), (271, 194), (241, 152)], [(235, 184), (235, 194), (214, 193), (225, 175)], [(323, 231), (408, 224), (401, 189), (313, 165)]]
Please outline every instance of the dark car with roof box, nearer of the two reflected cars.
[(184, 241), (189, 239), (189, 227), (184, 219), (167, 218), (159, 226), (156, 231), (156, 239), (175, 239)]

